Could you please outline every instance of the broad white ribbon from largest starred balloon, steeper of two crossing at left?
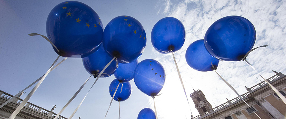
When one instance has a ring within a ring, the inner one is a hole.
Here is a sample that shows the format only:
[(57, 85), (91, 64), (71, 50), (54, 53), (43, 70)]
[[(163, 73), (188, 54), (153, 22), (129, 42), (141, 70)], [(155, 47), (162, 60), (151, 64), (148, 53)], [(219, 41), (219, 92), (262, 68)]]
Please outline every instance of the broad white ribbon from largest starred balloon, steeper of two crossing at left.
[(38, 87), (41, 85), (43, 80), (46, 78), (46, 76), (50, 73), (52, 68), (54, 67), (55, 63), (59, 59), (60, 55), (57, 57), (57, 59), (53, 62), (52, 66), (49, 68), (49, 70), (45, 73), (45, 75), (41, 78), (41, 80), (36, 84), (36, 86), (32, 89), (32, 91), (27, 95), (27, 97), (21, 102), (21, 104), (15, 109), (15, 111), (10, 115), (8, 119), (14, 119), (17, 114), (20, 112), (20, 110), (24, 107), (24, 105), (28, 102), (28, 100), (31, 98), (31, 96), (35, 93), (35, 91), (38, 89)]

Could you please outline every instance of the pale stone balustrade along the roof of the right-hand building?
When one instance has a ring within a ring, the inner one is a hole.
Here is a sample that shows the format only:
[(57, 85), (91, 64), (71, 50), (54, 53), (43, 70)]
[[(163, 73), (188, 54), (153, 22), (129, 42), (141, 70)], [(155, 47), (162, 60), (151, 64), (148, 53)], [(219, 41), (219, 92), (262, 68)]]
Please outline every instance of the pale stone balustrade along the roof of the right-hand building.
[[(274, 75), (274, 76), (272, 76), (272, 77), (270, 77), (269, 79), (266, 79), (269, 83), (272, 83), (272, 82), (275, 82), (275, 81), (277, 81), (278, 79), (281, 79), (281, 78), (283, 78), (283, 77), (285, 77), (286, 75), (284, 75), (284, 74), (282, 74), (282, 73), (278, 73), (278, 74), (276, 74), (276, 75)], [(255, 85), (255, 86), (253, 86), (253, 87), (251, 87), (251, 88), (248, 88), (247, 89), (247, 93), (244, 93), (243, 95), (240, 95), (243, 99), (246, 99), (246, 98), (248, 98), (248, 95), (250, 94), (250, 93), (253, 93), (254, 91), (256, 91), (256, 90), (258, 90), (258, 89), (260, 89), (260, 88), (262, 88), (262, 87), (265, 87), (267, 85), (267, 83), (264, 81), (264, 82), (261, 82), (261, 83), (259, 83), (259, 84), (257, 84), (257, 85)], [(235, 103), (237, 103), (237, 102), (239, 102), (239, 101), (241, 101), (241, 99), (240, 99), (240, 97), (236, 97), (236, 98), (234, 98), (234, 99), (232, 99), (232, 100), (230, 100), (230, 101), (227, 101), (226, 103), (223, 103), (223, 104), (221, 104), (220, 106), (217, 106), (217, 107), (215, 107), (215, 108), (213, 108), (212, 110), (210, 110), (210, 111), (208, 111), (208, 112), (205, 112), (205, 113), (203, 113), (202, 115), (198, 115), (198, 116), (196, 116), (196, 117), (194, 117), (194, 119), (199, 119), (199, 118), (202, 118), (202, 117), (206, 117), (207, 115), (209, 115), (209, 114), (212, 114), (212, 113), (215, 113), (215, 112), (217, 112), (217, 111), (220, 111), (221, 109), (224, 109), (224, 108), (226, 108), (226, 107), (229, 107), (229, 106), (231, 106), (231, 105), (233, 105), (233, 104), (235, 104)]]

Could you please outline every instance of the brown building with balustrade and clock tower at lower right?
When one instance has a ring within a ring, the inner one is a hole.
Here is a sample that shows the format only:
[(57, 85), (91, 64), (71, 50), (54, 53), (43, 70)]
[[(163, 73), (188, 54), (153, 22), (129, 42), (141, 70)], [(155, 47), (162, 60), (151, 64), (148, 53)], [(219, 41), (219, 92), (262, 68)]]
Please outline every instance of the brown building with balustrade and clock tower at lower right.
[[(282, 73), (267, 79), (284, 97), (286, 96), (286, 76)], [(247, 88), (247, 87), (246, 87)], [(272, 88), (264, 81), (247, 88), (241, 95), (245, 102), (262, 119), (286, 119), (286, 105)], [(200, 90), (190, 94), (200, 115), (194, 119), (259, 119), (257, 115), (239, 98), (236, 97), (215, 108), (209, 104)]]

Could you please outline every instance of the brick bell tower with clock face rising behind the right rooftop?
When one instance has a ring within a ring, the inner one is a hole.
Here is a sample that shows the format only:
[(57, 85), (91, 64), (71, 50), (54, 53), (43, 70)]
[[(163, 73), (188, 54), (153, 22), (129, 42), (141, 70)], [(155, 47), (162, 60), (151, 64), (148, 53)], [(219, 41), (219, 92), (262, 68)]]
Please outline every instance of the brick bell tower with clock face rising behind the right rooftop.
[(212, 105), (209, 104), (209, 101), (206, 100), (206, 97), (202, 91), (194, 90), (194, 93), (190, 94), (190, 97), (195, 103), (195, 108), (197, 108), (200, 115), (205, 115), (213, 112)]

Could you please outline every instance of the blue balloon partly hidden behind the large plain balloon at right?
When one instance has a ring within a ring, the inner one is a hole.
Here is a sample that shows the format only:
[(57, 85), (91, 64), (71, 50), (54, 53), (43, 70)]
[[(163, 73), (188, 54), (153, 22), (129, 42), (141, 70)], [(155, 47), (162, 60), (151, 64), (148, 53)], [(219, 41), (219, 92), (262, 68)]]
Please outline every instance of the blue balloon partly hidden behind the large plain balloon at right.
[(213, 71), (217, 68), (219, 62), (206, 50), (203, 40), (197, 40), (187, 48), (186, 61), (191, 68), (198, 71)]

